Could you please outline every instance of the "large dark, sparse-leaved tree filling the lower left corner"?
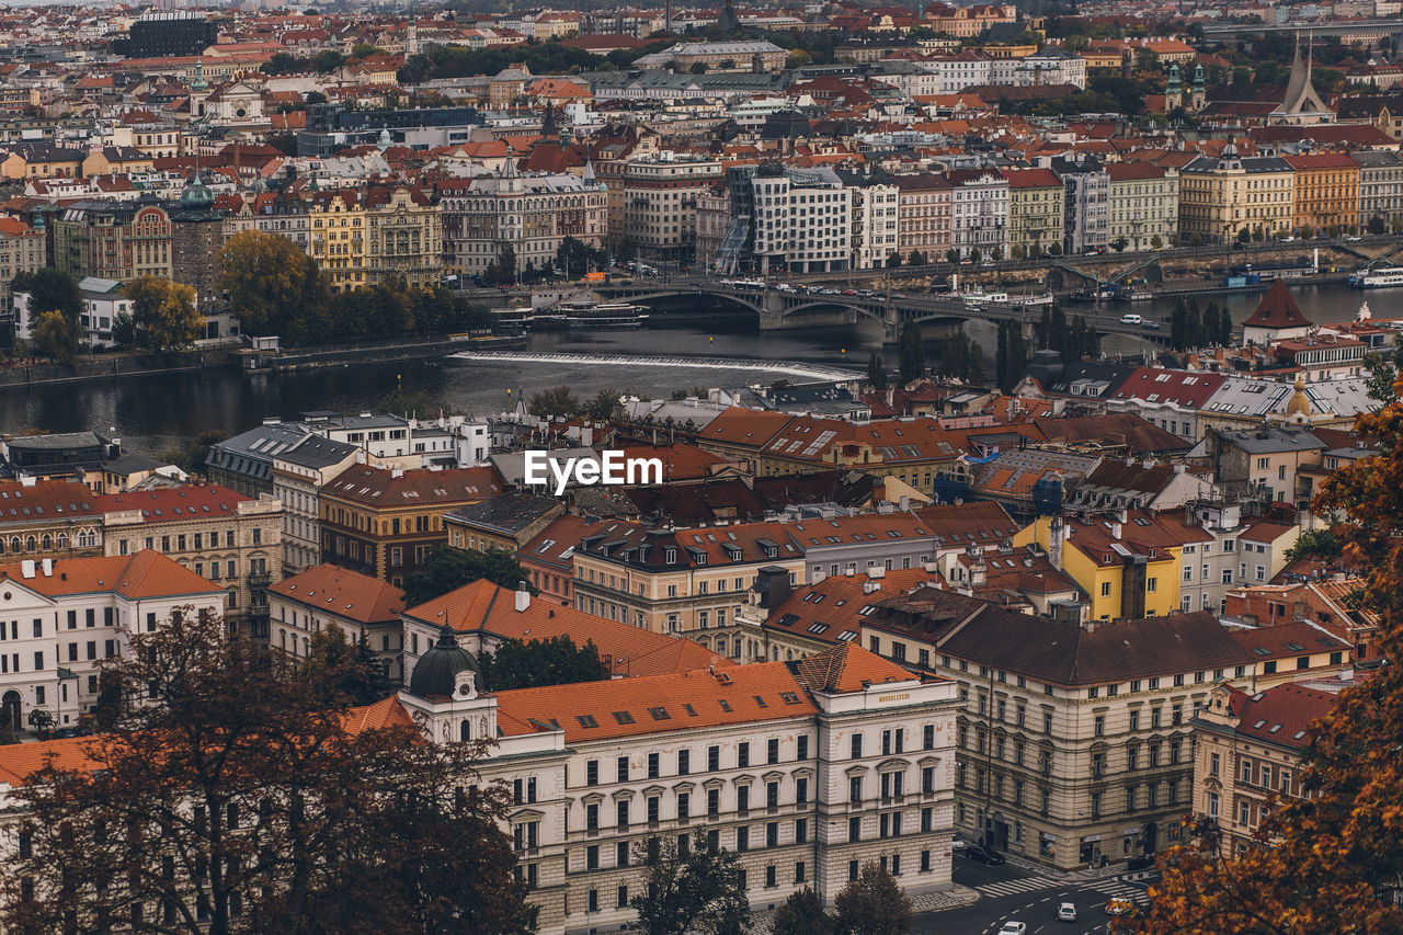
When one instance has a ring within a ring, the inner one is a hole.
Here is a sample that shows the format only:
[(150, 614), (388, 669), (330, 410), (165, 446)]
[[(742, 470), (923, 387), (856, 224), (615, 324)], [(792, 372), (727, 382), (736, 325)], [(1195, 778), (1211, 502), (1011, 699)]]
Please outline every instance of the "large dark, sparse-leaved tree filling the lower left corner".
[(532, 931), (509, 795), (473, 785), (487, 741), (359, 729), (269, 663), (189, 608), (132, 635), (111, 729), (11, 790), (29, 847), (0, 880), (6, 931)]

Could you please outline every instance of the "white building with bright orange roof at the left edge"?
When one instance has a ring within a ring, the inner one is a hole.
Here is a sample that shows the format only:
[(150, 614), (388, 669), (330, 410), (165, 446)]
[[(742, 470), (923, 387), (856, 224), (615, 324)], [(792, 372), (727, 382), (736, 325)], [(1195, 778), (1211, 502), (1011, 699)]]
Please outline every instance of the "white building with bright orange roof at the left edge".
[(14, 730), (34, 710), (74, 727), (98, 696), (102, 660), (177, 608), (219, 614), (224, 592), (143, 549), (125, 556), (25, 559), (0, 566), (0, 708)]

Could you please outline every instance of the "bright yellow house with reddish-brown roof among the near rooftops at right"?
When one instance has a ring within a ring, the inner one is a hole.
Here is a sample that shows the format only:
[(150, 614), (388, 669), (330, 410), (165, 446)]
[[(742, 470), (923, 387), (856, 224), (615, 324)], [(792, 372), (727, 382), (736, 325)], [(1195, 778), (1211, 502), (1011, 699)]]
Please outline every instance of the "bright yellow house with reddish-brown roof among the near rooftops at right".
[(1093, 621), (1164, 616), (1179, 606), (1181, 536), (1148, 511), (1038, 517), (1013, 536), (1038, 543), (1086, 592)]

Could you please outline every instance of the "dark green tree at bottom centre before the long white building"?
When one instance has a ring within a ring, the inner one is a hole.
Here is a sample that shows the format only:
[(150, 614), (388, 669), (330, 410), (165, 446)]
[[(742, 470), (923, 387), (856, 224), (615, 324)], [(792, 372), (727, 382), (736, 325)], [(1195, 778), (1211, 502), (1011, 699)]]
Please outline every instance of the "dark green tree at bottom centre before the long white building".
[(640, 842), (636, 854), (647, 886), (629, 904), (644, 935), (739, 935), (751, 921), (739, 855), (713, 847), (704, 830), (693, 831), (686, 848), (671, 837), (652, 838)]

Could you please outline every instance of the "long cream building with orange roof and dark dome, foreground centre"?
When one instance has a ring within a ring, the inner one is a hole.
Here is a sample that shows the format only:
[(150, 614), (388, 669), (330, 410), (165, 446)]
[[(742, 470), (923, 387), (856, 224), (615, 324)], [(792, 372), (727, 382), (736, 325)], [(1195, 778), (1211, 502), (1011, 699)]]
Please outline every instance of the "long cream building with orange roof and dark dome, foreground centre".
[(831, 901), (873, 861), (912, 894), (950, 886), (947, 679), (843, 646), (483, 695), (452, 635), (428, 653), (400, 701), (428, 737), (495, 740), (484, 778), (513, 790), (519, 873), (547, 935), (633, 922), (638, 845), (686, 847), (699, 828), (738, 855), (755, 910), (804, 887)]

